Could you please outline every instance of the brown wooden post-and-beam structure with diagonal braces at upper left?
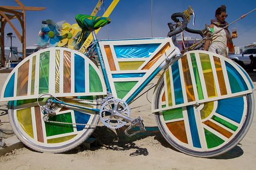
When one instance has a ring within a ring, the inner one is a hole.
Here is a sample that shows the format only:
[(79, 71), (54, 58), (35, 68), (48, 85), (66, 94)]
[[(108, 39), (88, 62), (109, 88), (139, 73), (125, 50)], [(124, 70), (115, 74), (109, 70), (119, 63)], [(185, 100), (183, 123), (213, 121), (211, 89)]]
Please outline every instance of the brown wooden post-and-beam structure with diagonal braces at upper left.
[[(1, 45), (1, 61), (2, 66), (5, 63), (4, 57), (4, 27), (6, 23), (9, 23), (14, 32), (16, 33), (19, 41), (22, 43), (23, 59), (26, 57), (26, 11), (41, 11), (46, 9), (45, 7), (35, 7), (35, 6), (24, 6), (19, 0), (15, 0), (19, 6), (0, 6), (0, 22), (1, 22), (1, 35), (0, 35), (0, 45)], [(21, 12), (20, 12), (21, 11)], [(22, 27), (22, 34), (16, 29), (14, 24), (12, 24), (11, 19), (17, 18)]]

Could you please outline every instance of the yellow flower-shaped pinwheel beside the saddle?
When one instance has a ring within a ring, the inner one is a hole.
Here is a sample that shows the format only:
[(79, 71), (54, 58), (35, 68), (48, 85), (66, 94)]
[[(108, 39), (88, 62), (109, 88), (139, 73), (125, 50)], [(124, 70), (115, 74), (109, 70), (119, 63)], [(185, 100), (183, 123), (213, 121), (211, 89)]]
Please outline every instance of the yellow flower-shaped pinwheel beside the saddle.
[(63, 37), (63, 39), (58, 42), (58, 46), (63, 47), (68, 44), (68, 48), (74, 49), (76, 42), (81, 34), (81, 31), (82, 29), (80, 29), (78, 24), (62, 24), (61, 36)]

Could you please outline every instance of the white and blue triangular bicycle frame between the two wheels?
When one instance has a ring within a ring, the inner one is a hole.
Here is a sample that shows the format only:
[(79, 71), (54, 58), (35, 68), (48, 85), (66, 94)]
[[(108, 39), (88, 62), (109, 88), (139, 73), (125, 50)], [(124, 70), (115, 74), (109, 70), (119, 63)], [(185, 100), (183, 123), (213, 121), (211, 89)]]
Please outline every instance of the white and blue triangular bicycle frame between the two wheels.
[[(94, 34), (94, 33), (93, 33)], [(96, 36), (94, 36), (95, 41), (97, 41)], [(153, 40), (153, 39), (152, 39)], [(154, 39), (154, 42), (151, 42), (151, 39), (136, 39), (136, 41), (141, 41), (141, 44), (145, 43), (145, 41), (148, 41), (147, 44), (150, 43), (156, 43), (157, 39)], [(114, 67), (118, 67), (120, 66), (120, 62), (127, 62), (129, 60), (131, 60), (131, 58), (128, 59), (123, 59), (123, 58), (119, 58), (117, 59), (117, 54), (113, 54), (115, 53), (114, 50), (112, 49), (113, 46), (126, 46), (127, 44), (130, 44), (132, 40), (110, 40), (110, 41), (97, 41), (96, 43), (96, 48), (97, 48), (97, 54), (98, 54), (98, 58), (99, 58), (99, 62), (100, 62), (100, 67), (102, 68), (102, 72), (104, 75), (104, 80), (105, 80), (105, 84), (107, 87), (107, 91), (112, 93), (114, 97), (117, 98), (122, 98), (122, 100), (124, 100), (127, 104), (131, 103), (132, 100), (147, 86), (147, 84), (149, 84), (149, 82), (160, 72), (160, 70), (162, 70), (169, 62), (170, 59), (174, 58), (177, 54), (180, 54), (180, 51), (177, 47), (174, 47), (174, 45), (172, 44), (172, 41), (170, 39), (170, 41), (166, 41), (165, 39), (158, 39), (158, 43), (160, 41), (161, 45), (156, 49), (156, 52), (153, 53), (149, 59), (144, 60), (143, 59), (134, 59), (136, 61), (142, 61), (144, 62), (143, 65), (141, 65), (140, 67), (137, 67), (137, 69), (126, 69), (126, 68), (114, 68), (113, 66), (111, 66), (111, 59), (109, 59), (109, 55), (111, 55), (112, 58), (114, 58), (116, 56), (116, 58), (112, 59), (113, 63), (114, 63)], [(163, 42), (164, 41), (164, 42)], [(170, 48), (166, 48), (166, 43), (170, 43)], [(138, 43), (138, 42), (137, 42)], [(111, 44), (111, 45), (110, 45)], [(116, 45), (117, 44), (117, 45)], [(159, 43), (160, 44), (160, 43)], [(134, 44), (132, 44), (134, 45)], [(111, 47), (110, 47), (111, 46)], [(109, 49), (111, 49), (112, 52), (110, 52), (109, 54), (106, 54), (106, 47), (109, 47)], [(104, 51), (102, 49), (105, 49)], [(160, 51), (159, 51), (160, 49)], [(159, 52), (161, 52), (161, 54), (159, 54)], [(113, 56), (114, 55), (114, 56)], [(147, 63), (149, 63), (149, 61), (154, 58), (154, 56), (156, 55), (160, 55), (158, 56), (158, 59), (153, 63), (152, 68), (150, 69), (145, 69), (145, 65)], [(135, 61), (135, 62), (136, 62)], [(133, 61), (130, 61), (133, 62)], [(113, 64), (112, 63), (112, 64)], [(135, 63), (136, 64), (136, 63)], [(112, 67), (112, 68), (111, 68)], [(121, 67), (121, 66), (120, 66)], [(145, 71), (144, 71), (144, 70)], [(149, 70), (150, 73), (146, 73)], [(139, 77), (132, 77), (134, 73), (145, 73), (143, 77), (146, 77), (143, 81), (139, 80)], [(112, 76), (111, 76), (112, 74)], [(120, 79), (120, 76), (123, 76), (122, 74), (131, 74), (131, 77), (127, 76), (124, 77), (123, 80), (119, 81), (117, 79)], [(109, 80), (111, 79), (111, 80)], [(127, 94), (125, 96), (120, 97), (117, 92), (115, 91), (115, 84), (113, 84), (113, 82), (129, 82), (131, 81), (131, 79), (133, 79), (134, 81), (140, 81), (139, 85), (136, 84), (136, 87), (132, 88), (133, 90), (129, 91), (130, 94)]]

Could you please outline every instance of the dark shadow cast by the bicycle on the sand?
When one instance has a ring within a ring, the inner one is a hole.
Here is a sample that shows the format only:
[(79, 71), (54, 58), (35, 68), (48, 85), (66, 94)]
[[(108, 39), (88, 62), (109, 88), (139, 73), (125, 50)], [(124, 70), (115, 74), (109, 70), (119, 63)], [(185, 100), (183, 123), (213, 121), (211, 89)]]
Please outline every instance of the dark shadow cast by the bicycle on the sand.
[[(114, 150), (114, 151), (129, 151), (129, 150), (133, 151), (133, 149), (136, 149), (135, 152), (130, 153), (131, 157), (134, 157), (137, 155), (146, 156), (146, 155), (149, 155), (147, 148), (137, 146), (134, 143), (134, 141), (151, 136), (151, 137), (154, 137), (154, 139), (158, 140), (162, 146), (171, 148), (172, 150), (177, 151), (174, 147), (172, 147), (169, 143), (167, 143), (165, 138), (161, 135), (157, 126), (146, 127), (146, 130), (147, 130), (146, 132), (138, 133), (133, 137), (127, 137), (125, 135), (124, 130), (126, 128), (127, 126), (124, 126), (121, 129), (111, 130), (106, 128), (106, 126), (98, 126), (91, 136), (93, 138), (96, 138), (97, 142), (93, 143), (93, 145), (90, 147), (90, 150), (95, 151), (102, 147), (110, 150)], [(84, 145), (82, 144), (74, 148), (73, 150), (66, 152), (66, 154), (76, 154), (78, 152), (83, 152), (85, 150), (88, 150), (88, 148), (84, 147)], [(218, 155), (217, 157), (213, 157), (209, 159), (233, 159), (233, 158), (240, 157), (243, 153), (244, 151), (242, 151), (242, 148), (239, 147), (239, 144), (238, 144), (237, 146), (232, 148), (232, 150), (224, 154)]]

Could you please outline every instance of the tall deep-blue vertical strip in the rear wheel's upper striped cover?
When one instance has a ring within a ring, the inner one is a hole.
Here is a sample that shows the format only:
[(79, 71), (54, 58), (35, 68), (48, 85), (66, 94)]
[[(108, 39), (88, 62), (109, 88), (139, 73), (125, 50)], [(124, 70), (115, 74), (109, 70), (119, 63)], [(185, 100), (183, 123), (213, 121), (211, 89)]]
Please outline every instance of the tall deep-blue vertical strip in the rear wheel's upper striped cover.
[(84, 58), (75, 54), (75, 93), (85, 92), (85, 66)]

